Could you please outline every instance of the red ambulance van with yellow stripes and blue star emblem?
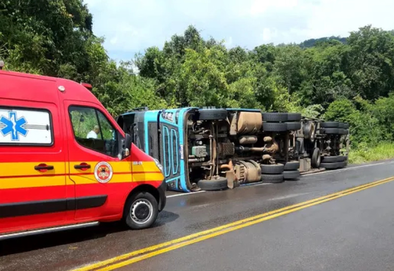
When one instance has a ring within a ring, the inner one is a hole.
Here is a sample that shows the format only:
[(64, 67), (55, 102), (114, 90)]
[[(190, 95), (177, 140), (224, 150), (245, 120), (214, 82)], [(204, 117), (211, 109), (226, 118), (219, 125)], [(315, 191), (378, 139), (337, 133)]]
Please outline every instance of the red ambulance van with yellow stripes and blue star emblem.
[[(0, 238), (124, 219), (151, 226), (161, 165), (83, 85), (0, 71)], [(17, 233), (17, 234), (15, 234)]]

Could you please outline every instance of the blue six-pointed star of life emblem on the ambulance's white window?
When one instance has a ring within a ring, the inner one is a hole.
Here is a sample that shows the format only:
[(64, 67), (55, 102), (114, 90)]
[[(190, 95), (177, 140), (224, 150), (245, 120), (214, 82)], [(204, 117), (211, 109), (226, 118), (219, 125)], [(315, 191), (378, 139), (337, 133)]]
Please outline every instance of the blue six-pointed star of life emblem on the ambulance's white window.
[[(18, 119), (16, 112), (8, 111), (8, 118), (4, 116), (0, 118), (0, 131), (3, 136), (11, 134), (12, 141), (19, 141), (19, 135), (26, 136), (28, 134), (28, 130), (24, 128), (26, 124), (27, 121), (23, 116)], [(4, 125), (5, 127), (2, 127)]]

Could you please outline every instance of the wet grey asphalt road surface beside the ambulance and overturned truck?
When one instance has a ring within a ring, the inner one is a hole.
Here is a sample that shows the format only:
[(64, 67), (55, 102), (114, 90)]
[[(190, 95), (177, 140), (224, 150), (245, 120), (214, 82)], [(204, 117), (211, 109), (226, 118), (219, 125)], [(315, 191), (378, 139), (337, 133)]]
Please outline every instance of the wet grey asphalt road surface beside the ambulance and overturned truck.
[[(0, 271), (71, 270), (394, 176), (393, 161), (220, 192), (169, 193), (151, 229), (119, 223), (0, 241)], [(394, 270), (394, 181), (307, 206), (121, 270)], [(142, 256), (143, 257), (143, 256)]]

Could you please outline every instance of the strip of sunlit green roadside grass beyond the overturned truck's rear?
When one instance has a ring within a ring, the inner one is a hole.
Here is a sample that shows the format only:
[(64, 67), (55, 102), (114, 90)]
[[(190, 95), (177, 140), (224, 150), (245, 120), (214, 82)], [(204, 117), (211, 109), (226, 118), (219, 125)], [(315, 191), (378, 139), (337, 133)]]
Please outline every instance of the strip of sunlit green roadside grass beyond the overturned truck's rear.
[(351, 150), (349, 153), (349, 163), (351, 164), (361, 164), (390, 158), (394, 158), (394, 142), (382, 142), (375, 147)]

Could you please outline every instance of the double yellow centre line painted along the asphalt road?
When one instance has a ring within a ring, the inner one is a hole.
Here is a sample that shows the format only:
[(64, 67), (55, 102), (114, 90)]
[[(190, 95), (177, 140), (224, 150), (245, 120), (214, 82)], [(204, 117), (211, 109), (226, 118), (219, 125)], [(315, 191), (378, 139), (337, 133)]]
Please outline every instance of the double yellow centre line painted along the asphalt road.
[(390, 181), (394, 180), (394, 176), (387, 178), (387, 179), (383, 179), (383, 180), (379, 180), (379, 181), (374, 181), (374, 182), (370, 182), (367, 184), (363, 184), (360, 186), (356, 186), (350, 189), (346, 189), (346, 190), (342, 190), (339, 192), (335, 192), (332, 194), (329, 194), (327, 196), (323, 196), (320, 198), (316, 198), (310, 201), (306, 201), (306, 202), (302, 202), (302, 203), (297, 203), (294, 205), (290, 205), (284, 208), (280, 208), (280, 209), (276, 209), (270, 212), (266, 212), (263, 214), (259, 214), (259, 215), (255, 215), (252, 217), (248, 217), (245, 219), (241, 219), (220, 227), (216, 227), (213, 229), (209, 229), (206, 231), (202, 231), (202, 232), (198, 232), (196, 234), (192, 234), (192, 235), (188, 235), (185, 237), (180, 237), (177, 239), (173, 239), (164, 243), (160, 243), (157, 245), (153, 245), (153, 246), (149, 246), (146, 248), (142, 248), (127, 254), (123, 254), (120, 255), (118, 257), (114, 257), (99, 263), (95, 263), (92, 265), (88, 265), (79, 269), (75, 269), (74, 271), (109, 271), (109, 270), (114, 270), (114, 269), (118, 269), (127, 265), (131, 265), (133, 263), (151, 258), (153, 256), (159, 255), (159, 254), (163, 254), (165, 252), (183, 247), (183, 246), (187, 246), (193, 243), (197, 243), (212, 237), (216, 237), (219, 235), (223, 235), (238, 229), (242, 229), (260, 222), (263, 222), (265, 220), (269, 220), (278, 216), (282, 216), (288, 213), (292, 213), (295, 212), (297, 210), (301, 210), (313, 205), (317, 205), (320, 203), (325, 203), (328, 201), (332, 201), (334, 199), (337, 198), (341, 198), (343, 196), (346, 195), (350, 195), (377, 185), (381, 185)]

